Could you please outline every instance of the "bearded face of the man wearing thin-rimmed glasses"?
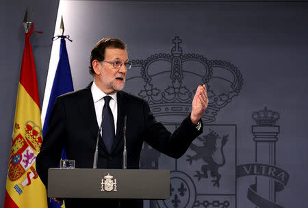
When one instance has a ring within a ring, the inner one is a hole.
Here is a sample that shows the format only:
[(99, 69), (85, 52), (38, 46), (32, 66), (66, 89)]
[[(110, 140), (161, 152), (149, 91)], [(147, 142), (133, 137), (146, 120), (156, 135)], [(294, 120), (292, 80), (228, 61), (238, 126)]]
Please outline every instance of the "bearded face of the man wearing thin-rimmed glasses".
[[(128, 61), (127, 51), (125, 49), (106, 48), (105, 61), (125, 63)], [(127, 69), (124, 64), (120, 68), (114, 68), (112, 64), (107, 62), (97, 63), (97, 75), (94, 79), (97, 86), (105, 94), (114, 94), (124, 88)]]

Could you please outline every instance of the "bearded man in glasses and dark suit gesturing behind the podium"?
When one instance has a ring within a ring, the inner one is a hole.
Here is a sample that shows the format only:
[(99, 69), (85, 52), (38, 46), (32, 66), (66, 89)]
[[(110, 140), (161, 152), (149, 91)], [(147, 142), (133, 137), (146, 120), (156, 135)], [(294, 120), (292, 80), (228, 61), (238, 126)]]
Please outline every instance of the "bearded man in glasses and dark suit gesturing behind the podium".
[[(198, 86), (192, 101), (192, 112), (174, 133), (157, 122), (149, 104), (143, 99), (121, 91), (127, 69), (131, 67), (126, 44), (116, 38), (103, 38), (90, 57), (90, 74), (94, 82), (77, 92), (59, 96), (49, 120), (36, 168), (47, 187), (47, 171), (57, 167), (62, 148), (76, 168), (92, 168), (99, 125), (98, 168), (122, 168), (123, 127), (127, 118), (127, 168), (139, 168), (143, 142), (170, 157), (179, 158), (203, 131), (201, 116), (207, 107), (205, 85)], [(105, 103), (109, 103), (109, 106)], [(106, 114), (107, 112), (107, 114)], [(108, 114), (109, 113), (109, 114)], [(109, 121), (107, 118), (111, 118)], [(108, 135), (104, 131), (111, 129)], [(110, 140), (111, 138), (111, 140)], [(56, 198), (54, 199), (58, 201)], [(142, 200), (66, 199), (66, 207), (142, 207)]]

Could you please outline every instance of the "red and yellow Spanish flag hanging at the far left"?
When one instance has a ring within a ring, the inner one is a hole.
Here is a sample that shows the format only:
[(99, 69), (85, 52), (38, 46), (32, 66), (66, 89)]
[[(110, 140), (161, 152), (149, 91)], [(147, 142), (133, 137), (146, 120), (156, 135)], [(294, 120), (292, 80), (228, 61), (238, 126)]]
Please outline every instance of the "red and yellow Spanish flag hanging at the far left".
[(36, 172), (36, 155), (42, 144), (40, 100), (30, 36), (25, 33), (25, 49), (18, 83), (12, 146), (6, 180), (4, 208), (47, 208), (46, 189)]

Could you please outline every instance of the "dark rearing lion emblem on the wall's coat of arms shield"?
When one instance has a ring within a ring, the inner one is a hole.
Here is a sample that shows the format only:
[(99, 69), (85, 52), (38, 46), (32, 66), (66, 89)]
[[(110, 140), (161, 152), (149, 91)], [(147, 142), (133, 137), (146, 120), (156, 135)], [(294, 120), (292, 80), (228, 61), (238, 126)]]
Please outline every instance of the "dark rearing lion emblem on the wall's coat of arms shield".
[(199, 141), (203, 142), (203, 146), (196, 146), (195, 144), (191, 144), (190, 148), (192, 151), (196, 152), (196, 155), (186, 155), (188, 159), (187, 161), (190, 162), (190, 165), (192, 164), (193, 160), (203, 159), (207, 165), (203, 165), (201, 167), (201, 171), (196, 171), (196, 175), (194, 177), (198, 178), (198, 181), (200, 181), (201, 178), (207, 179), (208, 172), (211, 174), (211, 177), (214, 178), (211, 182), (213, 183), (213, 186), (219, 187), (219, 182), (221, 178), (221, 174), (219, 174), (218, 169), (226, 163), (226, 158), (224, 157), (224, 145), (227, 144), (229, 135), (224, 135), (221, 140), (221, 146), (220, 146), (220, 153), (222, 155), (222, 163), (218, 164), (216, 161), (214, 161), (213, 155), (217, 150), (217, 140), (220, 139), (220, 136), (215, 133), (214, 131), (211, 131), (204, 135), (203, 138), (198, 138)]

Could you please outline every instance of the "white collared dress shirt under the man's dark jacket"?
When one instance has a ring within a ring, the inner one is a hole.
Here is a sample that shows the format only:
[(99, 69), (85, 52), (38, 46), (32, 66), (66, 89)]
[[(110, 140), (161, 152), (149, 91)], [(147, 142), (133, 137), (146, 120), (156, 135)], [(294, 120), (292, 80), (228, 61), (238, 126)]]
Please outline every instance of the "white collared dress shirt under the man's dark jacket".
[(112, 110), (112, 115), (114, 116), (114, 135), (116, 135), (116, 121), (118, 118), (118, 102), (116, 99), (116, 93), (114, 94), (105, 94), (103, 91), (99, 90), (95, 81), (93, 81), (91, 86), (91, 92), (93, 96), (93, 102), (95, 107), (95, 114), (97, 115), (97, 124), (101, 126), (101, 117), (103, 114), (103, 107), (105, 105), (105, 100), (103, 99), (104, 96), (109, 95), (112, 97), (110, 99), (110, 109)]

